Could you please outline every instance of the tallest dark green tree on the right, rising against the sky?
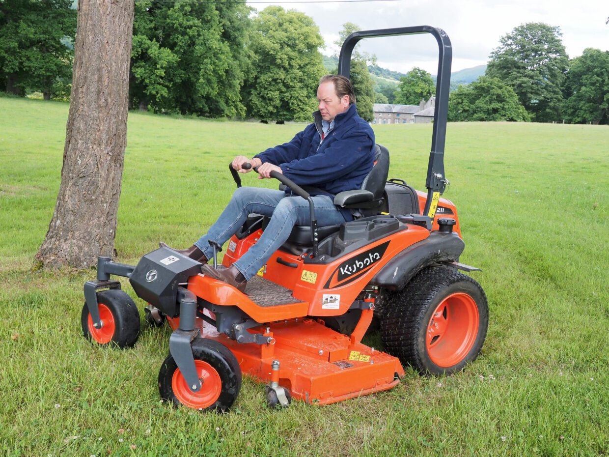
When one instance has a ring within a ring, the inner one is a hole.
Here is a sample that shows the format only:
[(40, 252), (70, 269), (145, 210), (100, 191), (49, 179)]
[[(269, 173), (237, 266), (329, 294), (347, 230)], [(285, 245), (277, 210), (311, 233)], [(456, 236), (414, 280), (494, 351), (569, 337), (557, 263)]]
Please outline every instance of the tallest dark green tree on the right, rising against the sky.
[(486, 75), (512, 87), (538, 122), (560, 118), (560, 88), (568, 66), (561, 35), (559, 27), (523, 24), (502, 37), (490, 55)]

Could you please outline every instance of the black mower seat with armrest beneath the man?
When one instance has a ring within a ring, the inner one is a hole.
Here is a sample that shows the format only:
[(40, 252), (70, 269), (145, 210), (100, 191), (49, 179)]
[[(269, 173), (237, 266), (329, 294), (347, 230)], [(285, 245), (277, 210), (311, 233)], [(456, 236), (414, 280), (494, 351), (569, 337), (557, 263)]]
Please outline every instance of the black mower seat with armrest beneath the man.
[[(389, 175), (389, 151), (380, 144), (375, 144), (375, 163), (364, 178), (361, 188), (344, 191), (334, 196), (334, 204), (343, 208), (353, 208), (362, 216), (374, 216), (384, 205), (385, 182)], [(326, 225), (318, 227), (318, 239), (322, 241), (326, 236), (338, 232), (340, 225)], [(299, 254), (307, 247), (313, 246), (311, 241), (311, 227), (309, 225), (295, 225), (282, 249)]]

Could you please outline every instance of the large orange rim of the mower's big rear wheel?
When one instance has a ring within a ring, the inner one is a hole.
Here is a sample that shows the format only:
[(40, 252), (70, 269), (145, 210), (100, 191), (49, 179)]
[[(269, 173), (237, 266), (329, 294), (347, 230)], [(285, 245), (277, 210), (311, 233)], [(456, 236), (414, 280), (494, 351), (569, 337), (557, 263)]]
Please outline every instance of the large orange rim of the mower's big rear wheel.
[(474, 299), (462, 292), (442, 300), (429, 319), (425, 342), (431, 361), (451, 367), (470, 352), (478, 335), (480, 317)]

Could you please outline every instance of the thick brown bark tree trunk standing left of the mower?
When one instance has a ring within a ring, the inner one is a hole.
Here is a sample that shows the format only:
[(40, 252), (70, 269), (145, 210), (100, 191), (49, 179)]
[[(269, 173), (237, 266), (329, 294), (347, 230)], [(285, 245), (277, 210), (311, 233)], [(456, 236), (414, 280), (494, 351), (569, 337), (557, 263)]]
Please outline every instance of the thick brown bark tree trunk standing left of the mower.
[(79, 0), (62, 183), (36, 255), (46, 267), (88, 267), (114, 254), (133, 8), (133, 0)]

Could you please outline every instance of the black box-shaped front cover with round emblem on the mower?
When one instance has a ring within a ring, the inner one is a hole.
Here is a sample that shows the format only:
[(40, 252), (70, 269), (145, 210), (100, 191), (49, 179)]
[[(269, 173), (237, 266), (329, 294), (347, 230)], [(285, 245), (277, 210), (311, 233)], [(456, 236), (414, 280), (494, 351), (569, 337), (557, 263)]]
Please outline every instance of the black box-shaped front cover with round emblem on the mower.
[(177, 303), (178, 285), (201, 272), (201, 264), (172, 249), (161, 247), (141, 258), (129, 277), (133, 290), (164, 314), (175, 317), (180, 311)]

